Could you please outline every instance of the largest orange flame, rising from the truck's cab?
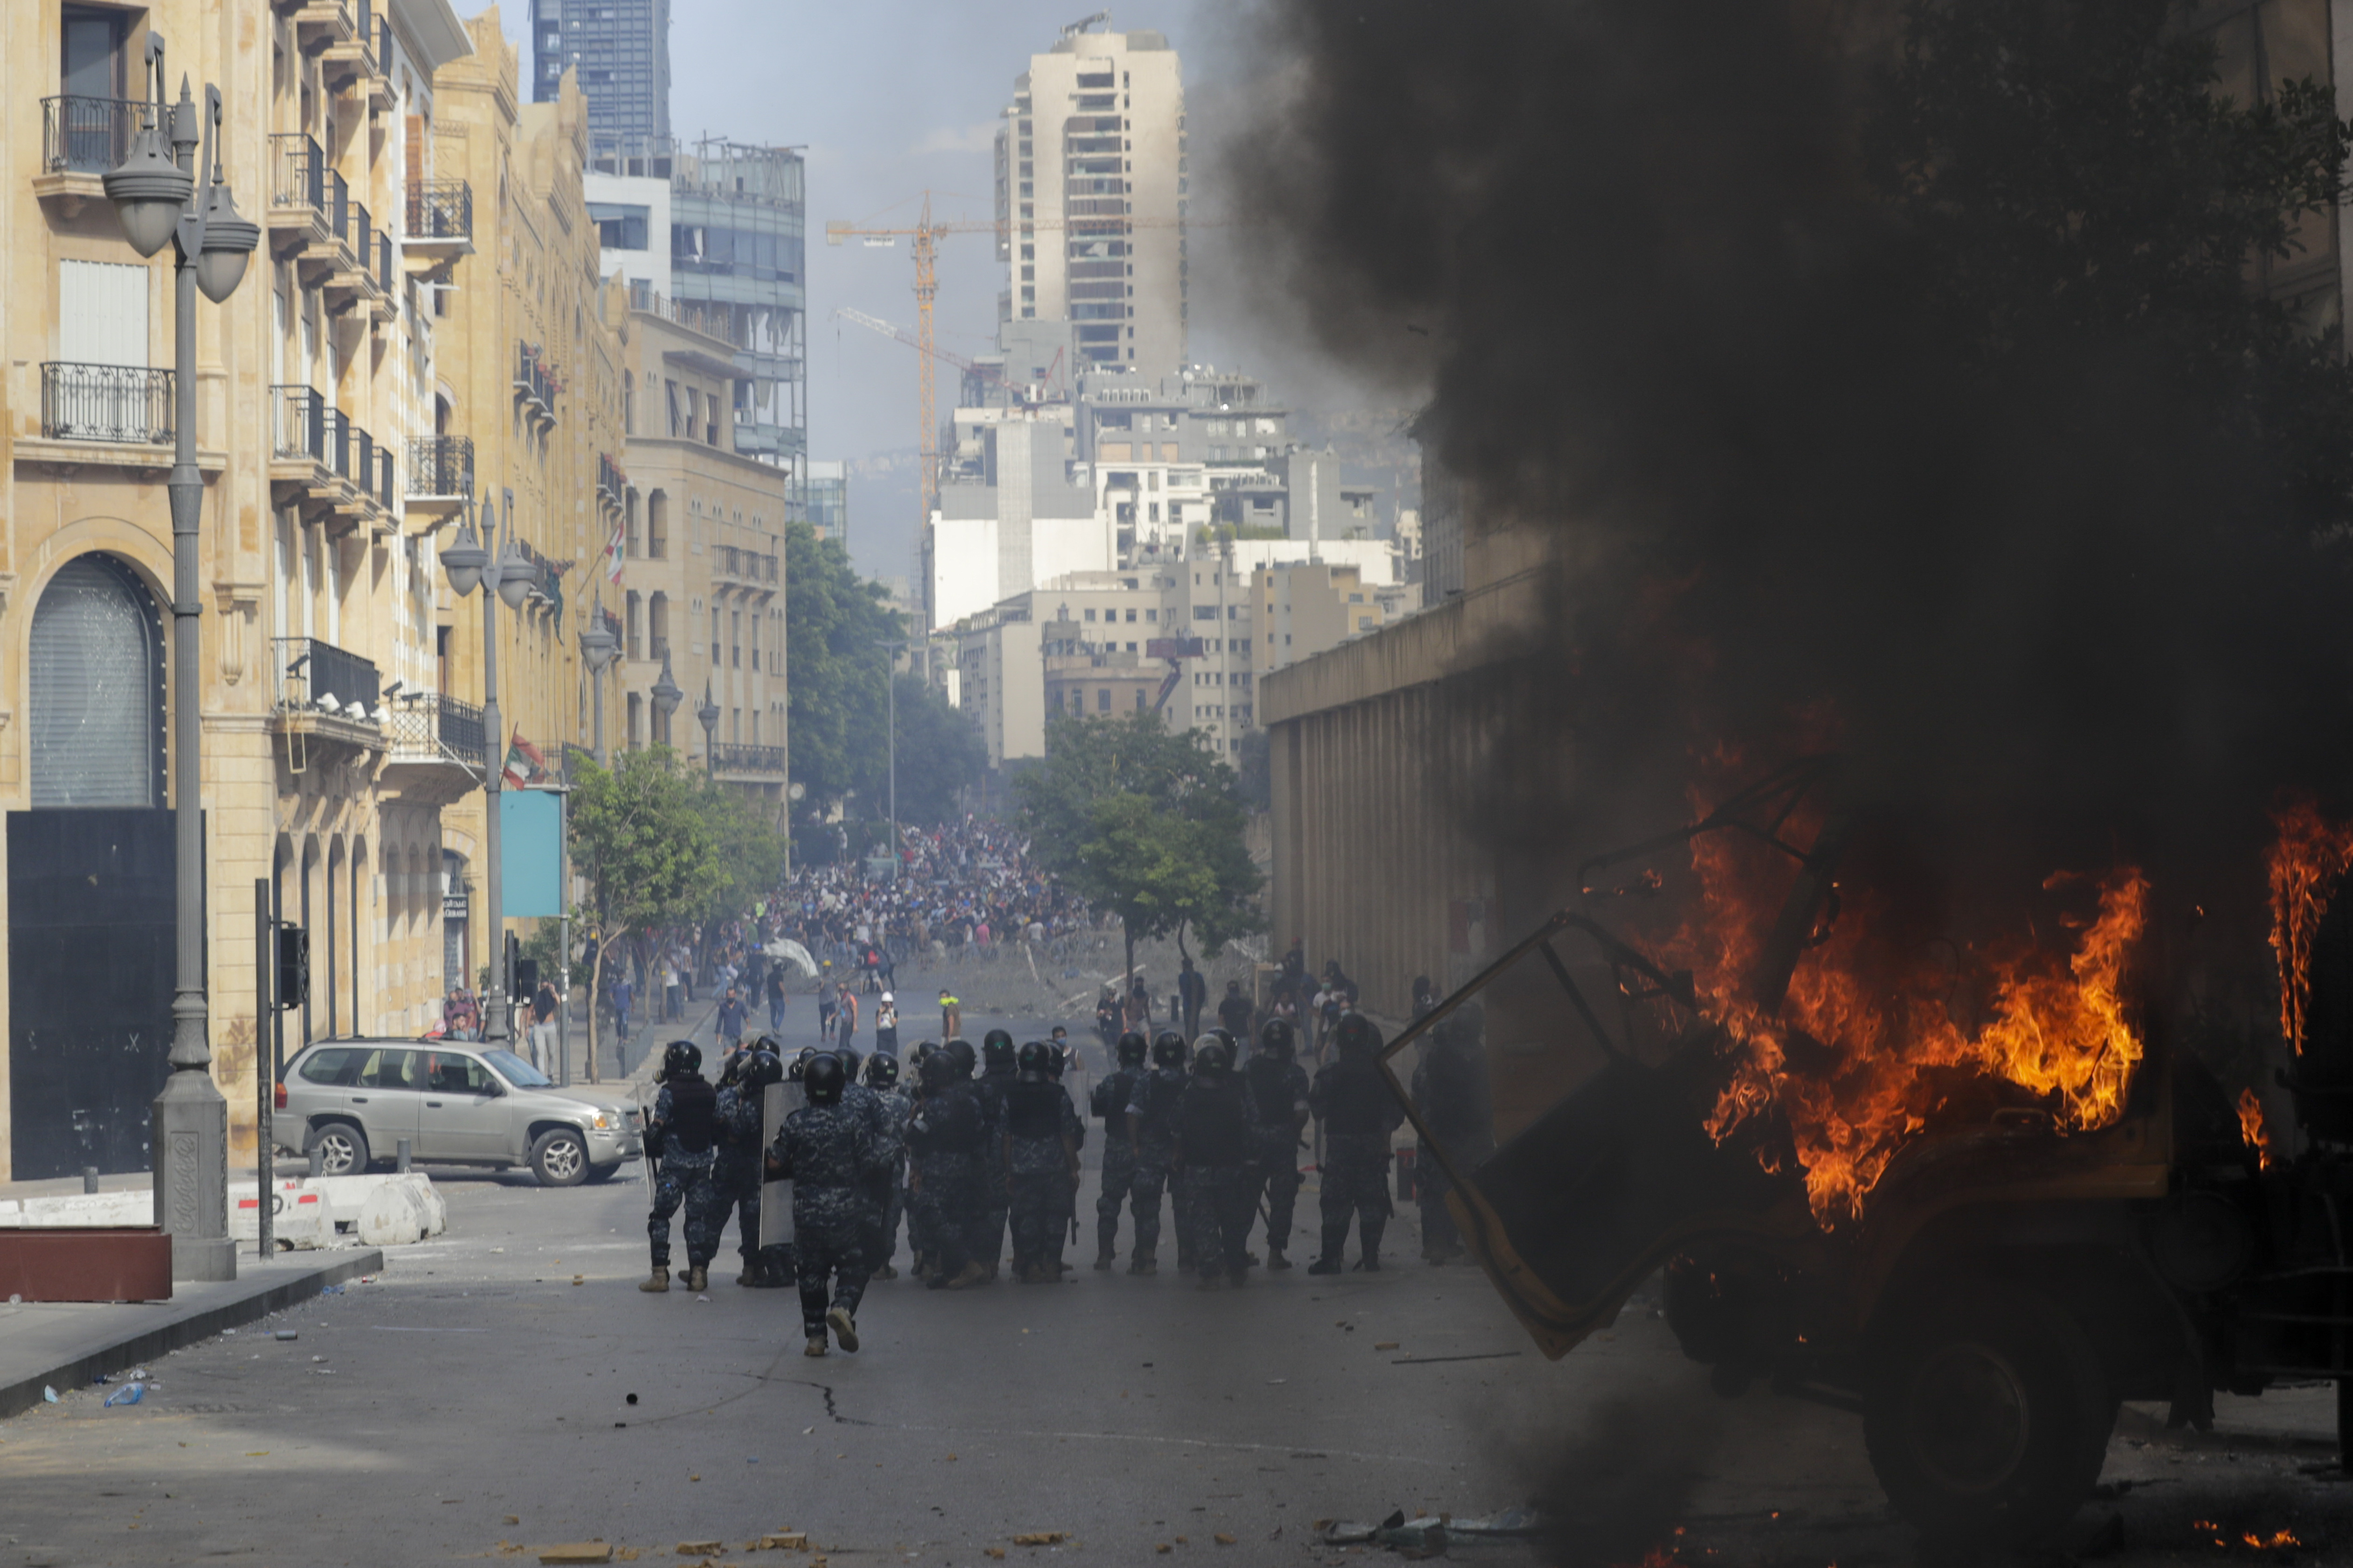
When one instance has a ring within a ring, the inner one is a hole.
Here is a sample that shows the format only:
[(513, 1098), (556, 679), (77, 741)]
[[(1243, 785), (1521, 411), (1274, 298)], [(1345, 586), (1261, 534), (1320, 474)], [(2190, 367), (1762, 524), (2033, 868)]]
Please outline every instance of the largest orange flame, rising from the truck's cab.
[[(1692, 842), (1692, 865), (1701, 898), (1668, 950), (1692, 969), (1704, 1009), (1739, 1046), (1706, 1128), (1722, 1143), (1779, 1110), (1824, 1227), (1861, 1215), (1864, 1197), (1955, 1084), (2007, 1086), (1998, 1103), (2031, 1100), (2059, 1131), (2122, 1117), (2144, 1056), (2125, 1001), (2148, 924), (2148, 879), (2139, 870), (2089, 882), (2097, 914), (2080, 922), (2064, 959), (2040, 943), (1955, 950), (1951, 964), (1922, 959), (1887, 936), (1897, 929), (1887, 910), (1842, 889), (1842, 919), (1814, 933), (1779, 1011), (1765, 1013), (1744, 987), (1788, 884), (1788, 860), (1720, 832)], [(2045, 889), (2073, 884), (2052, 877)], [(1986, 999), (1986, 1020), (1974, 1030), (1953, 1018), (1951, 999), (1965, 985)], [(1758, 1159), (1772, 1168), (1765, 1154)]]

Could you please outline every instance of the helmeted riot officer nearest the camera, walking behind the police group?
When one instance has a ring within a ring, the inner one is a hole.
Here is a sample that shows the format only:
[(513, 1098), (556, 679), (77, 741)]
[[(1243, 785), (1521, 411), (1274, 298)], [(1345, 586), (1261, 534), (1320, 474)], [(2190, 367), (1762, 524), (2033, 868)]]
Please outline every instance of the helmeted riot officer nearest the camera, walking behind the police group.
[[(767, 1150), (767, 1173), (793, 1182), (793, 1253), (800, 1267), (802, 1354), (826, 1354), (826, 1331), (847, 1352), (859, 1347), (856, 1312), (866, 1295), (866, 1248), (859, 1225), (875, 1150), (866, 1117), (842, 1105), (849, 1074), (833, 1053), (809, 1058), (800, 1084), (809, 1103), (784, 1119)], [(826, 1286), (833, 1286), (831, 1298)]]

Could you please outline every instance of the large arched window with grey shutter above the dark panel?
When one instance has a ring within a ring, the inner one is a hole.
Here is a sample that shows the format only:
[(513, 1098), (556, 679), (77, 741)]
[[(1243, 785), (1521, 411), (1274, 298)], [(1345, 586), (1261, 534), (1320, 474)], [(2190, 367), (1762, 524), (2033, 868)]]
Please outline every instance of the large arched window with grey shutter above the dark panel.
[(66, 562), (33, 611), (35, 806), (160, 806), (162, 623), (113, 555)]

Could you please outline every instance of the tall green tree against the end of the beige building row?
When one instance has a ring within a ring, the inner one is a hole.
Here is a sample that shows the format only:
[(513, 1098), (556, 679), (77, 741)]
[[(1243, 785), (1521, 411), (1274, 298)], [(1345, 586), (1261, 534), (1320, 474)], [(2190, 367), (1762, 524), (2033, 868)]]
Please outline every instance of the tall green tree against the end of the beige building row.
[(904, 632), (882, 585), (859, 578), (840, 541), (807, 522), (786, 524), (784, 567), (793, 783), (805, 788), (802, 811), (816, 813), (887, 771), (887, 656), (875, 644)]

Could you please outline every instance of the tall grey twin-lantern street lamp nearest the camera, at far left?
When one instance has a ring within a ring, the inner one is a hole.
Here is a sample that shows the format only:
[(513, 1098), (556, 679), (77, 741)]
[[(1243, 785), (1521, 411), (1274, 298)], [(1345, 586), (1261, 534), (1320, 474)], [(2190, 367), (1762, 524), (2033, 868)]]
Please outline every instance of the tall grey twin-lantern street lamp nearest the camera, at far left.
[[(165, 47), (146, 45), (146, 125), (118, 169), (106, 200), (122, 237), (141, 256), (176, 242), (172, 266), (172, 839), (176, 877), (176, 978), (172, 985), (172, 1077), (155, 1095), (155, 1222), (172, 1237), (174, 1279), (235, 1279), (228, 1241), (228, 1100), (212, 1081), (212, 1025), (205, 999), (205, 825), (202, 825), (202, 646), (198, 616), (198, 524), (205, 475), (195, 468), (195, 294), (226, 301), (245, 277), (261, 228), (238, 216), (221, 176), (221, 89), (205, 87), (198, 125), (188, 80), (165, 106)], [(169, 129), (165, 129), (169, 122)], [(195, 153), (202, 146), (202, 188)], [(268, 1161), (268, 1150), (261, 1152)]]

